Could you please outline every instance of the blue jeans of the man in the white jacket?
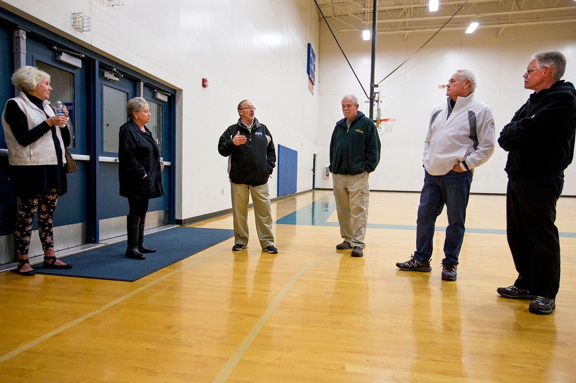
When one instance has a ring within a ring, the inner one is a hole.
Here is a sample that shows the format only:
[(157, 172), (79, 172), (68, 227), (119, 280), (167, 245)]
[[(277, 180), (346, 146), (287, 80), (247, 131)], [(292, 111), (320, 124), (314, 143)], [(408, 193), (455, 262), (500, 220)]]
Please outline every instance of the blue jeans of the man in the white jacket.
[(445, 175), (430, 175), (425, 171), (416, 220), (416, 251), (414, 251), (416, 261), (424, 262), (432, 258), (436, 219), (446, 205), (448, 227), (444, 240), (445, 258), (442, 263), (458, 265), (471, 184), (472, 173), (469, 171), (457, 173), (450, 170)]

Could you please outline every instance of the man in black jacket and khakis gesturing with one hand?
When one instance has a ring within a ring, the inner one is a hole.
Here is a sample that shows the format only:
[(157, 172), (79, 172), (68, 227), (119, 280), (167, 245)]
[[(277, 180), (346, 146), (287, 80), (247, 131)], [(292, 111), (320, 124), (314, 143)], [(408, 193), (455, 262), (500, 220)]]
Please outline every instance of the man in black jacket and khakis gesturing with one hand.
[(230, 125), (218, 140), (218, 152), (228, 157), (234, 221), (232, 250), (248, 247), (248, 200), (252, 196), (262, 251), (277, 254), (268, 191), (268, 177), (276, 166), (276, 150), (268, 128), (254, 117), (255, 110), (252, 102), (247, 99), (240, 101), (238, 122)]

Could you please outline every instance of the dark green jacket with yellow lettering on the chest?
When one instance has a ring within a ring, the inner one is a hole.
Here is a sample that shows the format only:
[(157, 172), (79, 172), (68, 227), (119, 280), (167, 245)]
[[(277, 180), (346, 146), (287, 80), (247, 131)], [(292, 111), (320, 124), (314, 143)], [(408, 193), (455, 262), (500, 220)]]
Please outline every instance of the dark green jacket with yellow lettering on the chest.
[(350, 129), (346, 118), (336, 122), (330, 141), (330, 171), (334, 174), (372, 173), (380, 162), (380, 137), (376, 126), (364, 113), (352, 120)]

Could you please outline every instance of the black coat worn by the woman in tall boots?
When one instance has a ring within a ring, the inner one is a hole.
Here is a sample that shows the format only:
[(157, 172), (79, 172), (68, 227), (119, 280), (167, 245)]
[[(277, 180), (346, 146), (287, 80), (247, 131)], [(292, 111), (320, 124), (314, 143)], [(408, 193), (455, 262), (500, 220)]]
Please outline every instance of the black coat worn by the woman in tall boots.
[[(118, 178), (120, 196), (150, 199), (164, 196), (160, 150), (148, 128), (142, 132), (130, 120), (120, 127)], [(146, 178), (144, 175), (147, 174)]]

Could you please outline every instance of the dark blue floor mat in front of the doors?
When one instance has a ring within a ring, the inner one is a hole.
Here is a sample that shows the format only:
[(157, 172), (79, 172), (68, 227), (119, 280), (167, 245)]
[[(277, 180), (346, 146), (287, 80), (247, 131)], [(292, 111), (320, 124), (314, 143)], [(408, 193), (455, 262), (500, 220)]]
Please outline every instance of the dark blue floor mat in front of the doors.
[(37, 274), (134, 282), (233, 236), (234, 231), (228, 229), (175, 227), (145, 236), (146, 246), (157, 251), (146, 254), (142, 261), (124, 256), (123, 241), (62, 258), (74, 266), (69, 270), (44, 269), (42, 263), (32, 267)]

